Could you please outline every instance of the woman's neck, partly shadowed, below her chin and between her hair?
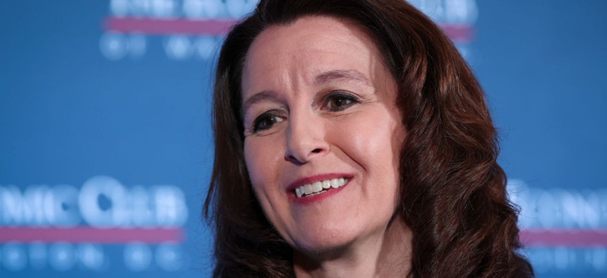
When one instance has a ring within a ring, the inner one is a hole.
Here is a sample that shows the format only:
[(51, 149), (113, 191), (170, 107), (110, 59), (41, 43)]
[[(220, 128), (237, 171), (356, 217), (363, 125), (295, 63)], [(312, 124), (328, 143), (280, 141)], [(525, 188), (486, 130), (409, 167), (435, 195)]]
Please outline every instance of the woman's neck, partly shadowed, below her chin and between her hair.
[(398, 217), (383, 233), (323, 253), (294, 252), (296, 277), (405, 277), (411, 268), (411, 230)]

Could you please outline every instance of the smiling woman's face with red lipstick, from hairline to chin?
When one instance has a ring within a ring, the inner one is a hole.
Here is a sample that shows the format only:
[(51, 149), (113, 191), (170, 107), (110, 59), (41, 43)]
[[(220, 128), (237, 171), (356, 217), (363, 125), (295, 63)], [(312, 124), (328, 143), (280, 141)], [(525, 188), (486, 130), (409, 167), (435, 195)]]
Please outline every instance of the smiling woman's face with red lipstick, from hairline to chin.
[(318, 16), (272, 26), (248, 51), (242, 90), (246, 166), (277, 231), (307, 252), (381, 236), (406, 132), (365, 32)]

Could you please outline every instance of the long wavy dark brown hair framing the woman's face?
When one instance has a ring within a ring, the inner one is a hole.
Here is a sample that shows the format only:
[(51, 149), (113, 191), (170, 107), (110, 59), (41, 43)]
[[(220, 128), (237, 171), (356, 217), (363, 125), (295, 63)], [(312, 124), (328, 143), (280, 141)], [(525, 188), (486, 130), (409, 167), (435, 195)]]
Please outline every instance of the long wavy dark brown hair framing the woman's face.
[(244, 162), (241, 74), (253, 40), (305, 16), (366, 30), (398, 85), (407, 128), (395, 215), (413, 232), (409, 277), (533, 277), (518, 253), (498, 140), (483, 90), (452, 42), (402, 0), (262, 0), (234, 26), (217, 64), (215, 164), (204, 214), (215, 228), (214, 277), (294, 277), (293, 249), (256, 199)]

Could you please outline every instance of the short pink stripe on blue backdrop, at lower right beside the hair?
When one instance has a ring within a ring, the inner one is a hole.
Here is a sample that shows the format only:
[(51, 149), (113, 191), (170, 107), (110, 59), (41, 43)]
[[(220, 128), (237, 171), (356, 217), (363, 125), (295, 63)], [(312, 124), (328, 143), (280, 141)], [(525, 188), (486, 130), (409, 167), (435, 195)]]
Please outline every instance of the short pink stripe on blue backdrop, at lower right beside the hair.
[(607, 229), (524, 229), (519, 238), (529, 247), (607, 247)]

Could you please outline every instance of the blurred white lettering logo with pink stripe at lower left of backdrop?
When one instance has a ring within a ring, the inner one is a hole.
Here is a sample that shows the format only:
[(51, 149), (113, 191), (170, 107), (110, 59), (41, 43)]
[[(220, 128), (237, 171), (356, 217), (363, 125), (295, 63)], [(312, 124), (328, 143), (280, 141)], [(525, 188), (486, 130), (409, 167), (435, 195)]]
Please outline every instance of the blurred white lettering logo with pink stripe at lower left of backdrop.
[(128, 270), (181, 270), (187, 218), (176, 186), (127, 187), (109, 176), (80, 188), (0, 186), (0, 262), (11, 271), (105, 270), (106, 251), (122, 247)]

